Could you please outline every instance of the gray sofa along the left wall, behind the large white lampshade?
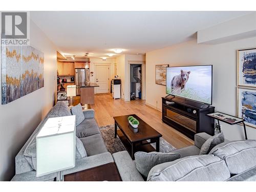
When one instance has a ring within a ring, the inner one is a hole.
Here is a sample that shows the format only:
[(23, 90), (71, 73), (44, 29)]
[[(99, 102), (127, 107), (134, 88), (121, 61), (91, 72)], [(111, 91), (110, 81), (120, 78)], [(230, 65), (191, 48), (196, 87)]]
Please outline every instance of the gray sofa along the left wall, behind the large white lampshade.
[[(15, 176), (12, 181), (53, 181), (56, 173), (36, 177), (35, 136), (48, 118), (72, 115), (65, 102), (57, 102), (46, 117), (36, 127), (33, 134), (15, 157)], [(94, 119), (94, 110), (83, 110), (84, 120), (76, 126), (76, 136), (83, 143), (87, 157), (76, 159), (76, 166), (61, 172), (61, 175), (78, 172), (102, 164), (114, 162), (112, 155), (106, 150), (98, 125)], [(32, 154), (32, 155), (31, 155)]]

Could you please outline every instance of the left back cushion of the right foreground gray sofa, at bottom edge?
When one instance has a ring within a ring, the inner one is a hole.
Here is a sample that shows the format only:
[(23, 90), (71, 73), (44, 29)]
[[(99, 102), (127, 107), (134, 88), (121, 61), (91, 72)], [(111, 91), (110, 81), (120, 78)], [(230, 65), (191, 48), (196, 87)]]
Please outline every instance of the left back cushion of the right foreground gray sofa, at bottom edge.
[(147, 181), (225, 181), (229, 177), (224, 160), (200, 155), (158, 164), (150, 170)]

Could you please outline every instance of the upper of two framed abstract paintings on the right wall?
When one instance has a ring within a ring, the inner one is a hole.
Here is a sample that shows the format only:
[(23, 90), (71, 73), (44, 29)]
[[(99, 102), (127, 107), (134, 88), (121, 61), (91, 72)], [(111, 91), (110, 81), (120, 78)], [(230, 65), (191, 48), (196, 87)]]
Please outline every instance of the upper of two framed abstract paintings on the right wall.
[(256, 88), (256, 48), (238, 50), (238, 86)]

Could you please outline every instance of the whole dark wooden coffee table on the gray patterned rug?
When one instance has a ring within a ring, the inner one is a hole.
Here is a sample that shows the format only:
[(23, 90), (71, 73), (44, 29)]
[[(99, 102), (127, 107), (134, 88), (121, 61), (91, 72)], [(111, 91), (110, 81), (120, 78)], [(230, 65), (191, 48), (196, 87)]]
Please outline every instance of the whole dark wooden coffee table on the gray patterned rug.
[[(140, 124), (138, 129), (134, 129), (127, 118), (133, 116), (136, 118)], [(160, 150), (160, 137), (162, 135), (154, 130), (145, 121), (139, 118), (137, 115), (123, 115), (114, 117), (115, 119), (115, 138), (118, 135), (122, 141), (124, 147), (129, 152), (132, 159), (134, 159), (134, 154), (138, 151), (141, 152), (159, 152)], [(119, 130), (117, 130), (117, 126)], [(150, 140), (149, 142), (147, 140)], [(156, 149), (151, 145), (151, 143), (156, 143)]]

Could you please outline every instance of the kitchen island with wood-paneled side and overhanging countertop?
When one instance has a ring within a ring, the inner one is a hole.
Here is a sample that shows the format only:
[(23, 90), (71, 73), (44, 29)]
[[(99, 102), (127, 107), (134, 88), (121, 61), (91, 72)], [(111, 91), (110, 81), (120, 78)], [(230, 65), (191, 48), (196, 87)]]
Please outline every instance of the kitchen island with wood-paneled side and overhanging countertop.
[(80, 103), (94, 104), (94, 88), (99, 87), (96, 83), (86, 83), (80, 86)]

